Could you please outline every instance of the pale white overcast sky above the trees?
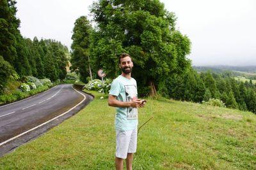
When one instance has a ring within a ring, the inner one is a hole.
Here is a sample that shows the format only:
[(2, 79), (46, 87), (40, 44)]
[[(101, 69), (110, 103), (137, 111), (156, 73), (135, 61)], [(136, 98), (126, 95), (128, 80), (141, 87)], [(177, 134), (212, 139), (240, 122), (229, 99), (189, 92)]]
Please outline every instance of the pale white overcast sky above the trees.
[[(95, 0), (94, 0), (95, 1)], [(256, 66), (255, 0), (160, 0), (191, 40), (193, 66)], [(17, 0), (22, 36), (72, 44), (77, 18), (90, 16), (93, 0)]]

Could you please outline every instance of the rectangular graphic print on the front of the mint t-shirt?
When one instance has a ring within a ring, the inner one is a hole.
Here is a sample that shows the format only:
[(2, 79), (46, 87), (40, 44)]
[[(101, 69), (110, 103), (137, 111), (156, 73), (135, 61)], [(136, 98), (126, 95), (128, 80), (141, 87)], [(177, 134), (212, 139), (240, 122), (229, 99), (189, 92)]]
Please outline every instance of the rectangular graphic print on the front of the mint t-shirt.
[[(137, 99), (137, 87), (136, 85), (125, 85), (125, 97), (126, 101), (133, 101)], [(133, 120), (138, 118), (137, 108), (127, 108), (127, 120)]]

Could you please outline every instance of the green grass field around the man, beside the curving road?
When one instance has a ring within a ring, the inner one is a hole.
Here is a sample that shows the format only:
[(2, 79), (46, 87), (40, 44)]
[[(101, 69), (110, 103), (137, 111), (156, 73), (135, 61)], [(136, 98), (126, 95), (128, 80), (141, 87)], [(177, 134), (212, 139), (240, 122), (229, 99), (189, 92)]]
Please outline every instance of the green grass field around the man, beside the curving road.
[[(0, 169), (115, 169), (115, 108), (99, 94), (84, 110), (0, 158)], [(106, 97), (105, 97), (106, 98)], [(147, 99), (133, 169), (256, 169), (256, 115)]]

